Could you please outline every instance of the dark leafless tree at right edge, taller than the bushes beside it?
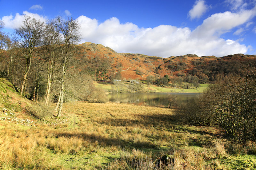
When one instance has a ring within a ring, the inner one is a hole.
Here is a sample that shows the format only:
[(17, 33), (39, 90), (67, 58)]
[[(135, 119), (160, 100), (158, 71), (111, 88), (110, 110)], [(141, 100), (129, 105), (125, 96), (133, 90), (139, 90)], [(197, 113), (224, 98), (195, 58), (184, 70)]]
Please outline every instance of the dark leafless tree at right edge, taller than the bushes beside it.
[(211, 85), (204, 105), (231, 137), (245, 142), (256, 137), (256, 77), (255, 68), (243, 69), (241, 77), (229, 75)]

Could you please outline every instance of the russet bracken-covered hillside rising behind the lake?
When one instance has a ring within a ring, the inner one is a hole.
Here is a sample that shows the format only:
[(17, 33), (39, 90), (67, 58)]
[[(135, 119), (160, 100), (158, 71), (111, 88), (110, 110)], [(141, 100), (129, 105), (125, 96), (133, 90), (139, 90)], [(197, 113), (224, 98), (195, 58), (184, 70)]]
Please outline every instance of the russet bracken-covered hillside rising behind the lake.
[[(241, 63), (247, 64), (250, 62), (252, 65), (256, 65), (255, 55), (235, 54), (217, 58), (215, 56), (199, 57), (187, 54), (161, 58), (143, 54), (116, 53), (109, 47), (91, 42), (80, 44), (77, 47), (80, 69), (85, 69), (94, 74), (96, 74), (96, 70), (99, 70), (100, 73), (105, 72), (108, 78), (119, 71), (126, 80), (145, 80), (149, 75), (155, 77), (168, 75), (172, 77), (191, 74), (199, 78), (207, 76), (210, 81), (214, 81), (215, 76), (220, 73), (236, 72), (234, 67)], [(227, 70), (228, 67), (233, 68)], [(226, 69), (221, 70), (223, 68)]]

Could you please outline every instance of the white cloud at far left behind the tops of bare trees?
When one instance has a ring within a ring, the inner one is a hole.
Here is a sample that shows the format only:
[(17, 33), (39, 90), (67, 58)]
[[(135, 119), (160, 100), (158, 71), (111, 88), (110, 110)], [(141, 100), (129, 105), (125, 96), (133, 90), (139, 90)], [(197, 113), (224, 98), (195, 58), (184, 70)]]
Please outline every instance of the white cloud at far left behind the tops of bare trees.
[(4, 16), (1, 20), (4, 22), (6, 28), (18, 28), (22, 25), (22, 22), (24, 21), (24, 15), (27, 15), (32, 18), (36, 18), (40, 21), (46, 21), (47, 18), (40, 16), (36, 13), (30, 13), (28, 11), (23, 11), (23, 15), (20, 15), (19, 13), (16, 13), (15, 17), (12, 15)]

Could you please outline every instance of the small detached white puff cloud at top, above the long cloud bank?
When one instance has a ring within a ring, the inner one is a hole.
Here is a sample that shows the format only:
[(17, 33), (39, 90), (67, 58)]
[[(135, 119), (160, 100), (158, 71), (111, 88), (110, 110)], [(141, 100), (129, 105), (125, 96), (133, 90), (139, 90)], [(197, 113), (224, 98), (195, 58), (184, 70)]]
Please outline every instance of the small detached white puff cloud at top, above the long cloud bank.
[(204, 0), (197, 0), (193, 5), (193, 8), (188, 11), (188, 15), (191, 19), (200, 18), (208, 9), (208, 5), (204, 4)]

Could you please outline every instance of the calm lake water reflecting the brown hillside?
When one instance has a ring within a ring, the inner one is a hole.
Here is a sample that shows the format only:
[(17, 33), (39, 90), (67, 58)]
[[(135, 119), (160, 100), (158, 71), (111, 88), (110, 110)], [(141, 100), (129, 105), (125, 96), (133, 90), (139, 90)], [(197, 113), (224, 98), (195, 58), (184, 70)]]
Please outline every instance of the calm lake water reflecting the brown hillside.
[(132, 103), (143, 106), (168, 107), (168, 94), (176, 96), (177, 103), (182, 103), (198, 95), (198, 93), (109, 93), (108, 99), (117, 103)]

